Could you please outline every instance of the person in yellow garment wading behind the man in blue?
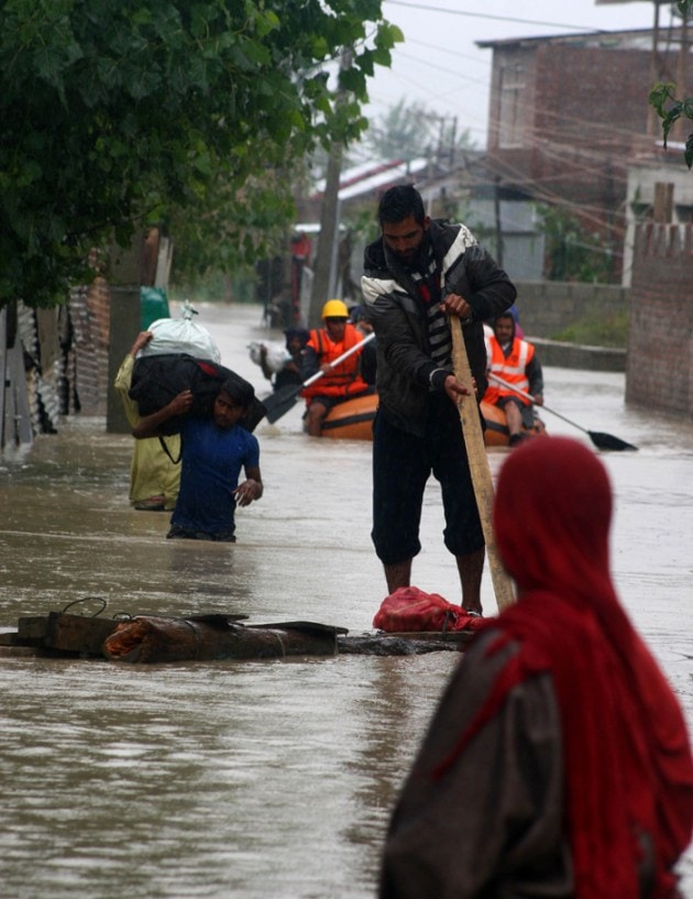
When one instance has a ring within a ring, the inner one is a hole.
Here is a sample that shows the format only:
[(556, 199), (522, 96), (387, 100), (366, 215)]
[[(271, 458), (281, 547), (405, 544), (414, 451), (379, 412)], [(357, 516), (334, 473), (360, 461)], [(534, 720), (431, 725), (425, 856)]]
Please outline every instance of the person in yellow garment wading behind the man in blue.
[[(151, 339), (151, 331), (141, 331), (138, 335), (116, 375), (114, 387), (122, 399), (128, 423), (133, 428), (140, 423), (140, 410), (128, 392), (132, 382), (135, 357)], [(172, 435), (165, 440), (173, 459), (179, 459), (179, 436)], [(158, 437), (134, 441), (130, 469), (130, 503), (134, 508), (145, 512), (164, 512), (175, 507), (180, 486), (180, 463), (174, 463), (173, 459), (162, 447)]]

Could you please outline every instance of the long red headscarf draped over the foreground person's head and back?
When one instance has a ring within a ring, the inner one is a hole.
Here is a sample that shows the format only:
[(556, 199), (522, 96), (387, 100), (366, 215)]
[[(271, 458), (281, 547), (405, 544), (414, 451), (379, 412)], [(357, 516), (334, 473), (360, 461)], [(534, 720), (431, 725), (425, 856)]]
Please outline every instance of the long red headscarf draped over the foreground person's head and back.
[(508, 639), (521, 648), (453, 756), (516, 683), (549, 671), (561, 715), (576, 899), (638, 899), (638, 834), (653, 844), (651, 897), (666, 899), (691, 838), (693, 763), (676, 699), (616, 597), (610, 514), (606, 471), (575, 440), (532, 440), (503, 465), (494, 529), (519, 601), (488, 623), (499, 632), (490, 651)]

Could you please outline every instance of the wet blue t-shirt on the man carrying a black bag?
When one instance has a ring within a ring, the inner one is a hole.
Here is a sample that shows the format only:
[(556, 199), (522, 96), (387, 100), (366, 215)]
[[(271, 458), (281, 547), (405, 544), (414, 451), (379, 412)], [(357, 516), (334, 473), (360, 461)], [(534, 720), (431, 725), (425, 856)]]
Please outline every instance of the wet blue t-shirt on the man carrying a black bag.
[(233, 529), (241, 470), (260, 464), (257, 438), (240, 425), (220, 428), (211, 418), (187, 418), (180, 429), (180, 492), (170, 524), (218, 534)]

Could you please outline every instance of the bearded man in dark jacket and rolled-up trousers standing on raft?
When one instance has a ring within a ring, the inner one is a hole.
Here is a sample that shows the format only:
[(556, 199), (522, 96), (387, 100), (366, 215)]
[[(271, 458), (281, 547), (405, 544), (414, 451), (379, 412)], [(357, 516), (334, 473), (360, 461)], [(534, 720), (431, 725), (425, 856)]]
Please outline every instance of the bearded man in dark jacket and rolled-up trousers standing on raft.
[[(483, 322), (512, 306), (507, 274), (463, 224), (432, 220), (413, 185), (391, 187), (381, 237), (365, 250), (362, 290), (377, 338), (380, 406), (373, 428), (372, 538), (393, 593), (411, 582), (424, 490), (432, 473), (457, 559), (462, 605), (481, 614), (485, 546), (457, 399), (486, 388)], [(475, 384), (452, 370), (460, 327)]]

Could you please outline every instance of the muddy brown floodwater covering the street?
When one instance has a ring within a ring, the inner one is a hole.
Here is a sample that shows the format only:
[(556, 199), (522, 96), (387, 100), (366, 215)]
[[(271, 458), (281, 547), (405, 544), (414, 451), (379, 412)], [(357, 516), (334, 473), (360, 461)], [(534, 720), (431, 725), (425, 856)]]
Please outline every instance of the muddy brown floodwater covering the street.
[[(258, 394), (258, 307), (199, 306)], [(619, 594), (693, 723), (693, 424), (626, 408), (624, 376), (547, 368), (546, 402), (638, 452), (601, 453)], [(256, 430), (265, 495), (235, 545), (165, 539), (128, 504), (132, 439), (73, 418), (0, 459), (0, 629), (61, 611), (244, 614), (369, 633), (371, 445), (311, 439), (300, 406)], [(587, 435), (543, 414), (551, 434)], [(490, 453), (492, 471), (507, 450)], [(458, 602), (428, 487), (414, 582)], [(495, 612), (491, 578), (484, 605)], [(455, 653), (172, 664), (0, 657), (7, 899), (365, 899), (389, 811)], [(693, 855), (682, 865), (693, 896)]]

